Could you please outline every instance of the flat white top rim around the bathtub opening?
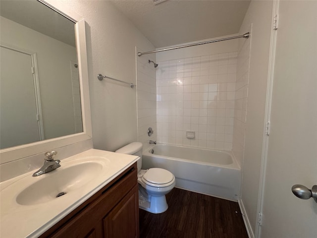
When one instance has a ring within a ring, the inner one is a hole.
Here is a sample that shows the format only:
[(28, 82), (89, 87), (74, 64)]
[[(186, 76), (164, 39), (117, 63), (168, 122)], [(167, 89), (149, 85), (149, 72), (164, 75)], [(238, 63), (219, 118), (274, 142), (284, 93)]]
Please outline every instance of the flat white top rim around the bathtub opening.
[[(181, 147), (181, 148), (193, 148), (193, 149), (199, 149), (199, 150), (208, 150), (208, 151), (216, 151), (216, 152), (220, 152), (220, 153), (225, 153), (225, 154), (228, 154), (231, 156), (232, 163), (229, 165), (221, 165), (221, 164), (215, 164), (215, 163), (206, 163), (206, 162), (192, 161), (192, 160), (186, 160), (186, 159), (181, 159), (181, 158), (152, 154), (150, 152), (150, 150), (153, 149), (153, 147), (155, 147), (156, 145), (167, 145), (167, 146), (175, 146), (175, 147)], [(159, 158), (175, 160), (175, 161), (182, 161), (182, 162), (192, 163), (192, 164), (209, 165), (209, 166), (216, 166), (216, 167), (221, 167), (221, 168), (230, 168), (233, 170), (240, 170), (241, 171), (241, 167), (238, 164), (234, 154), (232, 153), (232, 151), (228, 151), (228, 150), (201, 148), (201, 147), (196, 147), (196, 146), (183, 146), (183, 145), (175, 145), (175, 144), (167, 144), (167, 143), (159, 143), (158, 142), (157, 144), (149, 145), (147, 148), (143, 148), (142, 155), (159, 157)]]

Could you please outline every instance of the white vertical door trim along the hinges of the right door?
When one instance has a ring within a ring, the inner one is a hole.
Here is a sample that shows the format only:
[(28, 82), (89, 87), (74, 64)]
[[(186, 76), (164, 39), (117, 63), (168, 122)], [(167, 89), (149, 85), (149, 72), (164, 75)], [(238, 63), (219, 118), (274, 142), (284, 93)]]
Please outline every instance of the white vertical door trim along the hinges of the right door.
[[(273, 0), (272, 8), (272, 28), (270, 37), (270, 49), (269, 49), (269, 61), (268, 61), (268, 74), (267, 74), (267, 85), (266, 85), (266, 102), (265, 102), (265, 114), (264, 114), (264, 133), (263, 133), (263, 145), (262, 145), (262, 159), (261, 159), (261, 174), (260, 174), (260, 184), (259, 184), (259, 196), (258, 196), (258, 208), (257, 208), (257, 221), (260, 219), (260, 214), (262, 215), (263, 204), (264, 204), (264, 188), (265, 188), (265, 171), (267, 162), (267, 150), (268, 150), (268, 140), (269, 135), (265, 133), (266, 122), (270, 121), (271, 114), (271, 102), (272, 102), (272, 88), (273, 88), (273, 74), (274, 74), (274, 60), (275, 60), (275, 46), (276, 46), (276, 29), (273, 29), (274, 16), (278, 13), (279, 0)], [(256, 224), (256, 238), (261, 237), (261, 226), (257, 222)]]

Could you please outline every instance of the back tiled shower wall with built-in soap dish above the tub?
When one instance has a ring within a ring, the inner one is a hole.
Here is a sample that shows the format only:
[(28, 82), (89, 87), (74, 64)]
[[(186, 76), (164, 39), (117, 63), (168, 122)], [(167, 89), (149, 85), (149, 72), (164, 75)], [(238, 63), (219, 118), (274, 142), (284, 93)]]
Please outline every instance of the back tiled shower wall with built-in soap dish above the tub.
[[(158, 63), (158, 141), (231, 150), (237, 52)], [(195, 131), (195, 138), (186, 138), (186, 131)]]

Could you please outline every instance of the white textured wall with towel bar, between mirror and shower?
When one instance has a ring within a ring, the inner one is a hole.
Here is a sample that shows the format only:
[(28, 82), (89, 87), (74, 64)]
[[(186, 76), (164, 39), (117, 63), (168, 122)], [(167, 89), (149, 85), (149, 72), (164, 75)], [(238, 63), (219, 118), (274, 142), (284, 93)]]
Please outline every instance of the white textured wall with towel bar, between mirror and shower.
[(97, 74), (136, 84), (138, 46), (153, 45), (109, 1), (64, 0), (87, 22), (88, 71), (93, 141), (96, 149), (114, 151), (137, 141), (136, 88)]

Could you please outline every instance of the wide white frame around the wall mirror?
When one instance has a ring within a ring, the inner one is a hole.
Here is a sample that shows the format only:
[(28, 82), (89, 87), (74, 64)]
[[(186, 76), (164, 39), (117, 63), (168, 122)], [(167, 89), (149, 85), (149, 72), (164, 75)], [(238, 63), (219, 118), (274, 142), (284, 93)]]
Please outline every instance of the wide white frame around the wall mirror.
[[(92, 139), (85, 21), (56, 0), (38, 0), (75, 23), (83, 132), (0, 150), (0, 164)], [(58, 92), (55, 92), (58, 95)]]

